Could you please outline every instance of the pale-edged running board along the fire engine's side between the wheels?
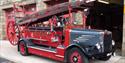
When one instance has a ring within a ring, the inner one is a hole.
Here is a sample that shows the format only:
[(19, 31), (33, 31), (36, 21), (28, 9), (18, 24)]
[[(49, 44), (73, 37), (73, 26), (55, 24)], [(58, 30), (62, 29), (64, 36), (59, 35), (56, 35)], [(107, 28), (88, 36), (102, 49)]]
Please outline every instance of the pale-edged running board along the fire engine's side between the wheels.
[(56, 53), (56, 48), (52, 48), (52, 47), (32, 45), (32, 46), (28, 46), (28, 48), (37, 49), (37, 50), (46, 51), (46, 52), (51, 52), (51, 53)]

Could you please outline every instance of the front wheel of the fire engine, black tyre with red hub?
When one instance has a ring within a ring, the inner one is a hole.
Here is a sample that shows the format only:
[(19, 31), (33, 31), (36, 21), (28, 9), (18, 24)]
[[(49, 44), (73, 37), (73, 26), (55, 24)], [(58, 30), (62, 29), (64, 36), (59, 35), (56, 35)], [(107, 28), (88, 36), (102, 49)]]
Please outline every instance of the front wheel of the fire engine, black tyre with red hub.
[(72, 48), (68, 52), (67, 63), (89, 63), (88, 58), (78, 48)]

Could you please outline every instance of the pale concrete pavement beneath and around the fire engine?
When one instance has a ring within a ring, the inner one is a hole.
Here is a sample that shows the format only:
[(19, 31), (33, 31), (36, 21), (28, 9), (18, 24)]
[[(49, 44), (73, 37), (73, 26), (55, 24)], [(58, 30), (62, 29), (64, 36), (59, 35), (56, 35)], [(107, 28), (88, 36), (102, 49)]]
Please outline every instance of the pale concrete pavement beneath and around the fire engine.
[[(36, 55), (22, 56), (17, 51), (17, 46), (12, 46), (9, 41), (0, 40), (0, 59), (5, 58), (15, 63), (60, 63), (45, 57)], [(1, 60), (0, 60), (0, 63)], [(9, 63), (9, 62), (6, 62)], [(125, 63), (125, 57), (112, 56), (108, 61), (91, 60), (91, 63)]]

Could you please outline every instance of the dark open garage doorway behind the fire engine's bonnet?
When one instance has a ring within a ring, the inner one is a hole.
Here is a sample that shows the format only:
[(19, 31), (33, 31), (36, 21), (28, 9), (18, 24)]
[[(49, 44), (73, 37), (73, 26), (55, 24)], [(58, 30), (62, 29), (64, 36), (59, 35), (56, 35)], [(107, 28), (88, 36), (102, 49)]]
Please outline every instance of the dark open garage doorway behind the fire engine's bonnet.
[(87, 19), (87, 25), (93, 29), (109, 30), (115, 41), (116, 48), (122, 48), (123, 5), (94, 3)]

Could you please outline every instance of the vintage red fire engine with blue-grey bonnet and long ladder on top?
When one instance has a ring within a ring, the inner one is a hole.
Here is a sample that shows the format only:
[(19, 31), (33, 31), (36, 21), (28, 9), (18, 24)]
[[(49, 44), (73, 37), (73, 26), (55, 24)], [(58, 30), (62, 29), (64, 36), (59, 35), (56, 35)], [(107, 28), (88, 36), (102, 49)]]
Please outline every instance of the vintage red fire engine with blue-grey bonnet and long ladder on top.
[(15, 20), (7, 21), (7, 36), (18, 45), (21, 55), (36, 54), (67, 63), (87, 63), (95, 57), (108, 60), (112, 54), (112, 34), (86, 26), (91, 0), (64, 2), (26, 14), (14, 5)]

